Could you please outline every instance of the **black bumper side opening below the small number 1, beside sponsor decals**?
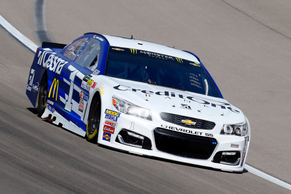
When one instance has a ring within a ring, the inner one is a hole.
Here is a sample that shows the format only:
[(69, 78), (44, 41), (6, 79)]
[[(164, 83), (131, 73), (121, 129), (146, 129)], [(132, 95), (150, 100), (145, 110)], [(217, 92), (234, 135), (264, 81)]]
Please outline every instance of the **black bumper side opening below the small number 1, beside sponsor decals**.
[(115, 141), (127, 146), (139, 147), (148, 150), (152, 149), (151, 141), (148, 137), (126, 129), (122, 129), (118, 133)]

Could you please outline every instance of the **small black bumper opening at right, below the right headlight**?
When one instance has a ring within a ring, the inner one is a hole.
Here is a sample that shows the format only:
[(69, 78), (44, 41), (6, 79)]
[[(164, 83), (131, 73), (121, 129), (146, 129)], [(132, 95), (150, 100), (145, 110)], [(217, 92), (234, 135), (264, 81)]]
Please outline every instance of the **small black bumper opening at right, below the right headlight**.
[(212, 160), (212, 162), (227, 165), (239, 165), (240, 161), (241, 161), (240, 151), (219, 151), (215, 154)]

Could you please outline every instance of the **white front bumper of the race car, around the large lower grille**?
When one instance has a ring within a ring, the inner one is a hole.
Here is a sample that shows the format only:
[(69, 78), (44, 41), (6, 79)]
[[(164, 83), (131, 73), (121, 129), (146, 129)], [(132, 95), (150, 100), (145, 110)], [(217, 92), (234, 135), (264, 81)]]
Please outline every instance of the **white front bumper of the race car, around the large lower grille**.
[[(101, 116), (101, 122), (105, 119)], [(171, 125), (172, 127), (169, 127)], [(104, 141), (103, 125), (98, 132), (98, 144), (139, 155), (163, 158), (233, 172), (242, 172), (249, 138), (214, 134), (213, 130), (189, 130), (192, 134), (173, 129), (186, 129), (165, 121), (148, 121), (121, 114), (110, 141)], [(129, 131), (129, 133), (127, 132)], [(185, 131), (185, 130), (184, 130)], [(188, 131), (188, 130), (187, 130)], [(203, 132), (201, 132), (203, 131)], [(193, 132), (195, 134), (193, 134)], [(213, 134), (211, 133), (213, 132)], [(129, 138), (126, 136), (129, 135)], [(250, 135), (250, 129), (246, 136)], [(127, 139), (126, 139), (127, 138)], [(247, 140), (247, 141), (246, 141)], [(145, 144), (143, 145), (143, 142)], [(234, 145), (234, 146), (233, 146)], [(225, 152), (236, 153), (239, 158), (226, 161)], [(224, 158), (224, 159), (223, 159)], [(220, 161), (224, 160), (224, 161)]]

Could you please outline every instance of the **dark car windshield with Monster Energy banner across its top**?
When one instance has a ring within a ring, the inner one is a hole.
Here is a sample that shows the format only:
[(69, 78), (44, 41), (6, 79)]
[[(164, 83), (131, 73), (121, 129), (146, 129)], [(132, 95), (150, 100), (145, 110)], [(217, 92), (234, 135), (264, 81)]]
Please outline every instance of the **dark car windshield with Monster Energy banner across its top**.
[(111, 46), (105, 75), (220, 97), (202, 65), (155, 52)]

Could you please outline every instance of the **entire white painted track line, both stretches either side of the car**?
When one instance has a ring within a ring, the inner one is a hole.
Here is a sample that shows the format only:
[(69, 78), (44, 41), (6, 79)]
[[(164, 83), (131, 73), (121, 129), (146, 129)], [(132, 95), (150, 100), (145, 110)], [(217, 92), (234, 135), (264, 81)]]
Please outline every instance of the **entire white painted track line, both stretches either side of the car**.
[[(8, 21), (6, 21), (1, 15), (0, 15), (0, 25), (3, 26), (8, 32), (10, 32), (14, 37), (16, 37), (20, 42), (22, 42), (24, 45), (26, 45), (29, 49), (31, 49), (33, 52), (36, 51), (37, 46), (26, 36), (24, 36), (21, 32), (16, 30)], [(263, 173), (262, 171), (245, 164), (244, 168), (249, 171), (250, 173), (253, 173), (261, 178), (265, 178), (271, 182), (274, 182), (277, 185), (280, 185), (282, 187), (285, 187), (286, 189), (291, 190), (291, 184), (288, 184), (278, 178), (272, 177), (271, 175), (268, 175), (266, 173)]]

